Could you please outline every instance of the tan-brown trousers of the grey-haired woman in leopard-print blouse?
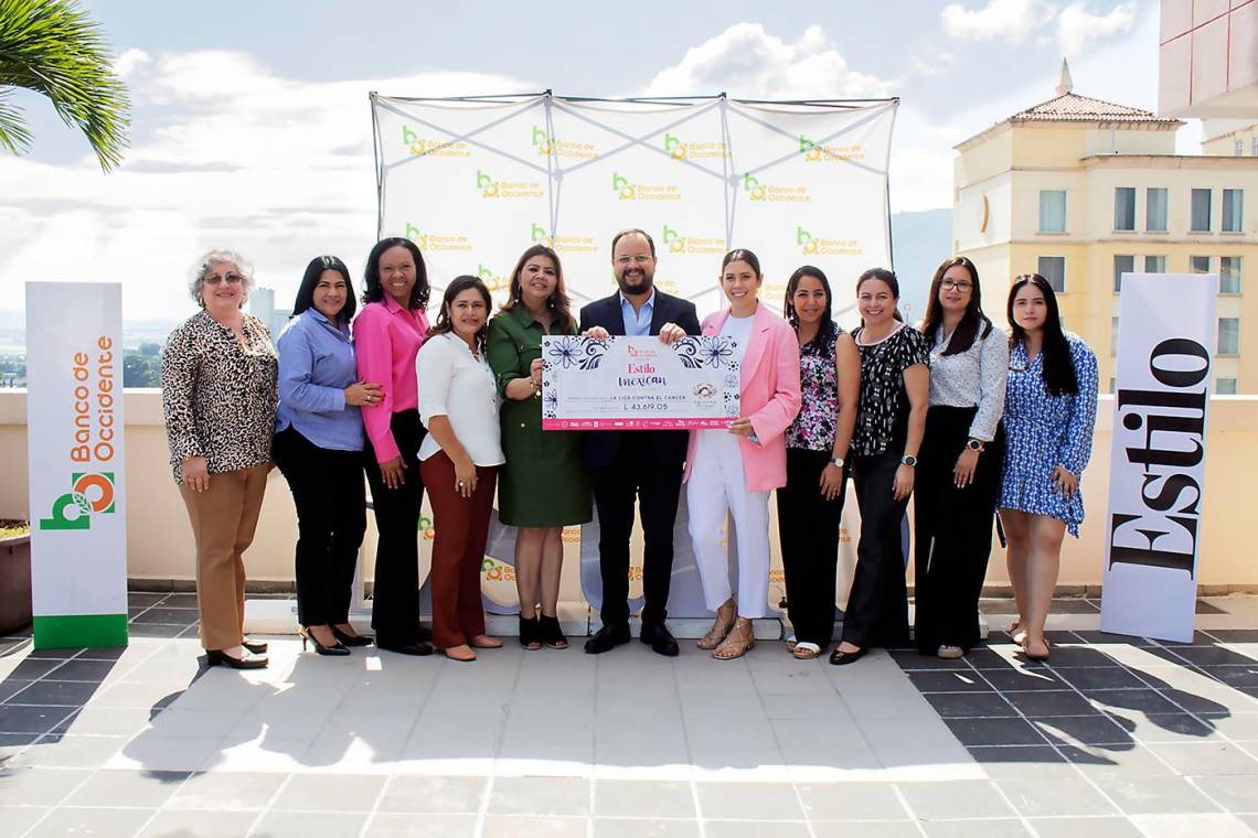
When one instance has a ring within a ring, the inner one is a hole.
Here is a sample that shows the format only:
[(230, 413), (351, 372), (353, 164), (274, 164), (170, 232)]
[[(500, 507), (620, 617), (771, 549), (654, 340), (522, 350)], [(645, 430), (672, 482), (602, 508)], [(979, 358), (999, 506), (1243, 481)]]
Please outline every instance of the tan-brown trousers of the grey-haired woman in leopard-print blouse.
[(196, 607), (201, 646), (231, 648), (244, 639), (244, 552), (253, 543), (268, 465), (210, 475), (210, 487), (180, 484), (196, 541)]

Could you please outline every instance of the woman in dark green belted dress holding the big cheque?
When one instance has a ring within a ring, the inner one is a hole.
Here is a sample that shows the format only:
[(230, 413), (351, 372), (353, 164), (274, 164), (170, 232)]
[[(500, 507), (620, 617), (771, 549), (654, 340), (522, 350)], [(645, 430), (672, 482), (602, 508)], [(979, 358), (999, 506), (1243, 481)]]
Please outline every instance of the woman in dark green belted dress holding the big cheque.
[[(556, 606), (564, 526), (590, 520), (590, 486), (580, 437), (542, 432), (542, 337), (576, 334), (559, 255), (545, 245), (523, 253), (511, 274), (511, 299), (489, 322), (487, 354), (502, 393), (498, 518), (516, 533), (520, 645), (567, 648)], [(540, 614), (538, 612), (540, 599)]]

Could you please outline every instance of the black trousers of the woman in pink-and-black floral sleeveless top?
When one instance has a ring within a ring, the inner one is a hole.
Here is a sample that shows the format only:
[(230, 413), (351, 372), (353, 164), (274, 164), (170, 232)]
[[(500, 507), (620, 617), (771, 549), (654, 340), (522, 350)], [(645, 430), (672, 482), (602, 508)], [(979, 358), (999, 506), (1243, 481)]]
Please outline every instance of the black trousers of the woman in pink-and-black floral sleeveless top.
[(834, 500), (821, 494), (830, 451), (786, 449), (786, 485), (777, 490), (777, 535), (786, 575), (786, 607), (799, 642), (823, 650), (834, 637), (834, 587), (839, 560), (843, 486)]

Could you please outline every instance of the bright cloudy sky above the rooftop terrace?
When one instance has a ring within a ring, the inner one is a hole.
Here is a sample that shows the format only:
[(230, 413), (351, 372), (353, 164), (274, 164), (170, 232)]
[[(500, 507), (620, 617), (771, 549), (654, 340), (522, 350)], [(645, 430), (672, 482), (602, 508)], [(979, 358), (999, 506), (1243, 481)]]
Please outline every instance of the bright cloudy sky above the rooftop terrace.
[[(951, 207), (952, 147), (1052, 98), (1063, 57), (1077, 93), (1157, 101), (1157, 0), (82, 5), (130, 88), (131, 147), (104, 175), (19, 93), (35, 146), (0, 152), (0, 309), (23, 307), (26, 280), (108, 280), (126, 318), (179, 319), (189, 266), (216, 246), (252, 259), (277, 304), (314, 255), (359, 275), (376, 224), (371, 90), (897, 95), (893, 212)], [(1199, 139), (1181, 129), (1180, 153)]]

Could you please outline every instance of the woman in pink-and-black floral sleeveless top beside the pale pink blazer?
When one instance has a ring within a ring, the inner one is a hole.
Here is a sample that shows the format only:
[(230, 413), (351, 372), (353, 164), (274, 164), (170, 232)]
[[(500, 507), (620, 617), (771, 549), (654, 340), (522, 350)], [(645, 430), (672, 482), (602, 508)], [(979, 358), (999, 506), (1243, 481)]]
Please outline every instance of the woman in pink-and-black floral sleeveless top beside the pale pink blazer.
[(786, 430), (786, 485), (777, 490), (777, 534), (796, 658), (810, 660), (834, 634), (835, 565), (844, 465), (857, 421), (860, 356), (830, 317), (830, 283), (805, 265), (786, 283), (785, 315), (799, 339), (803, 407)]

